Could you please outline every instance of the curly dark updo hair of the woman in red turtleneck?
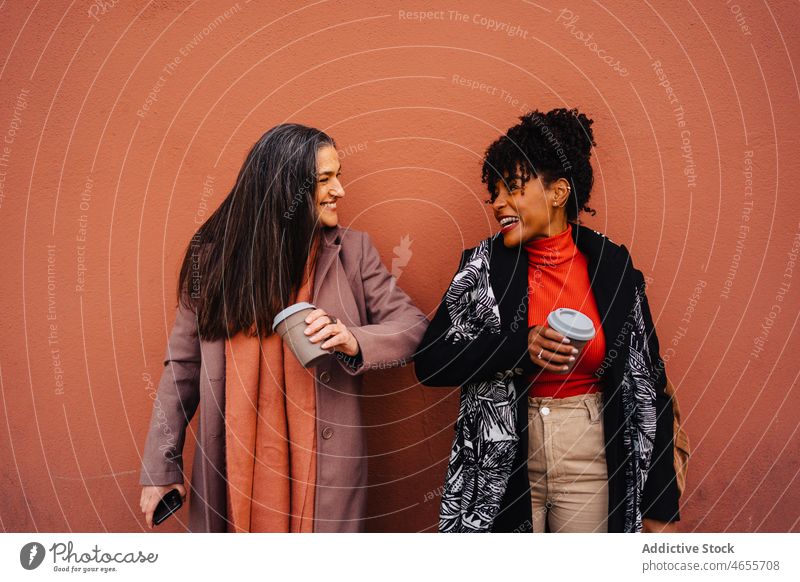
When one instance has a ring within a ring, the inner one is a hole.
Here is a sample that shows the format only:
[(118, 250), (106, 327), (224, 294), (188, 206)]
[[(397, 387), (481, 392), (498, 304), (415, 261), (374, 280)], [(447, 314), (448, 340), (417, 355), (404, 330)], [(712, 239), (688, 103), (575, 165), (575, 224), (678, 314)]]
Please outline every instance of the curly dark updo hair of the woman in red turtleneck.
[(594, 177), (589, 157), (597, 145), (592, 135), (591, 119), (577, 109), (553, 109), (547, 113), (531, 111), (519, 118), (520, 123), (509, 128), (486, 148), (481, 179), (486, 184), (491, 201), (497, 198), (497, 182), (518, 175), (522, 185), (540, 177), (545, 185), (559, 178), (570, 185), (566, 205), (567, 219), (575, 221), (581, 210), (592, 216), (587, 206)]

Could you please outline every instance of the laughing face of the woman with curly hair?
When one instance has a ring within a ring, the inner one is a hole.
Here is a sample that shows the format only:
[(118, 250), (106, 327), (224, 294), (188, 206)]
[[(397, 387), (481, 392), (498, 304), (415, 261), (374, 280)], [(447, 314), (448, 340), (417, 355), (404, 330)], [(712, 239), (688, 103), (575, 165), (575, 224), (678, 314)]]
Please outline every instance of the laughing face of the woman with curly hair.
[(545, 186), (542, 177), (531, 176), (522, 183), (517, 175), (498, 180), (497, 196), (491, 202), (500, 223), (503, 244), (513, 247), (563, 232), (567, 228), (565, 204), (569, 183), (559, 178)]

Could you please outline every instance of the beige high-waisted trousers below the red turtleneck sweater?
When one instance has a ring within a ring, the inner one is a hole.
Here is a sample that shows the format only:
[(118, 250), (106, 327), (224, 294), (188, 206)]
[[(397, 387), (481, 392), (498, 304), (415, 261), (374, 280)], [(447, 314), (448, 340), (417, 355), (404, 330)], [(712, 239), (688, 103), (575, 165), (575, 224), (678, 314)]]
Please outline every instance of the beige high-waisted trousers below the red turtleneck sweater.
[(608, 531), (602, 392), (528, 397), (533, 531)]

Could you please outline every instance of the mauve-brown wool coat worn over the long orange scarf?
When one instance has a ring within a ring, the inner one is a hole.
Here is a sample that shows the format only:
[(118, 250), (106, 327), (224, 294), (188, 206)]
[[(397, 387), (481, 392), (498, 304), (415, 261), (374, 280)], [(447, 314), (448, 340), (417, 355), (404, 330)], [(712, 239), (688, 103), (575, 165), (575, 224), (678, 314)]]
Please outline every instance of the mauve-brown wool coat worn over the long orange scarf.
[[(363, 531), (367, 450), (359, 395), (369, 369), (405, 365), (428, 320), (381, 263), (368, 234), (325, 229), (313, 303), (335, 315), (361, 347), (356, 370), (331, 358), (317, 366), (317, 489), (314, 531)], [(189, 493), (189, 530), (227, 529), (225, 340), (202, 341), (195, 314), (179, 306), (153, 406), (140, 484), (184, 482), (186, 427), (198, 406), (197, 448)]]

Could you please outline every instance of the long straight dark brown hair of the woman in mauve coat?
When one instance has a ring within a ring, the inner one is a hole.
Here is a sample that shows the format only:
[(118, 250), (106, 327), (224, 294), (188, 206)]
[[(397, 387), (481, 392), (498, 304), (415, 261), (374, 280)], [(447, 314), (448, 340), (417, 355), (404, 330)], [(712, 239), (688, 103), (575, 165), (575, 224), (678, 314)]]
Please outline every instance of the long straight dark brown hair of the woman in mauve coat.
[(264, 337), (303, 282), (321, 229), (317, 150), (336, 147), (324, 132), (287, 123), (253, 145), (228, 196), (192, 237), (178, 301), (197, 314), (208, 341), (242, 331)]

